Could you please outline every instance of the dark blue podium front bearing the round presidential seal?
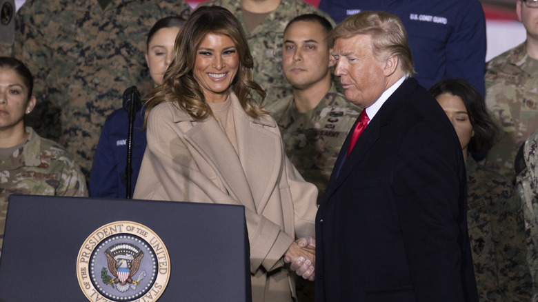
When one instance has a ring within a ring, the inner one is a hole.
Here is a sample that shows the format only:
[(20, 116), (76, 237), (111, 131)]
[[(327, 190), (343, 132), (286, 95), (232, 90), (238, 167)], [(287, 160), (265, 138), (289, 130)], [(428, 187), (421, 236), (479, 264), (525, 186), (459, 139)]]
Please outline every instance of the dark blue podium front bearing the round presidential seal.
[[(243, 206), (12, 195), (0, 301), (251, 301), (249, 269)], [(98, 292), (85, 294), (90, 279)]]

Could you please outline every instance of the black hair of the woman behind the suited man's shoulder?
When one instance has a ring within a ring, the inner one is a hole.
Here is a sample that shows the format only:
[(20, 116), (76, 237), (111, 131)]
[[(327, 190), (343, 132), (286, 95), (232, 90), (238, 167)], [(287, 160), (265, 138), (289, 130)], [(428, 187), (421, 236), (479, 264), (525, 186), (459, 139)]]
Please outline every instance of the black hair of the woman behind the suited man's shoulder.
[(430, 88), (430, 93), (437, 98), (448, 93), (464, 101), (472, 130), (475, 136), (469, 142), (469, 152), (490, 149), (495, 144), (497, 123), (486, 109), (486, 102), (480, 92), (464, 79), (443, 79)]

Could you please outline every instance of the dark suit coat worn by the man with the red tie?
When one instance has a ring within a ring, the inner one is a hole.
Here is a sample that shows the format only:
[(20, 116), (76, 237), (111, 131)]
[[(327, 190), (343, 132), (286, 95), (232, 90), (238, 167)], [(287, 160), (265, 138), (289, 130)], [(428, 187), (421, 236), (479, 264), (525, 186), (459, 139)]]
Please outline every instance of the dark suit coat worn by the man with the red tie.
[(349, 139), (317, 212), (316, 301), (478, 301), (465, 164), (437, 101), (406, 79), (341, 165)]

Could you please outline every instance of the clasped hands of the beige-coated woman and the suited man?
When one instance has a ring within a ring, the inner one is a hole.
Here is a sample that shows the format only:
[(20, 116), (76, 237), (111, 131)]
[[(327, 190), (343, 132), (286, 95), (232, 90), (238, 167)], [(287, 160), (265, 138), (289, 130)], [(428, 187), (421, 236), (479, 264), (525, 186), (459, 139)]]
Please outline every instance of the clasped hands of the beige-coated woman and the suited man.
[(299, 238), (284, 254), (284, 263), (291, 263), (290, 269), (304, 279), (314, 281), (316, 267), (316, 239)]

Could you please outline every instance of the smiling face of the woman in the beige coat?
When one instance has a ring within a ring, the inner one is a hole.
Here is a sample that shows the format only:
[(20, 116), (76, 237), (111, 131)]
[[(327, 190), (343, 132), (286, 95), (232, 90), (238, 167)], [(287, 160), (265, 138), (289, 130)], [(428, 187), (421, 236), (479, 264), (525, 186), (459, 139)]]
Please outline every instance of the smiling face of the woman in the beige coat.
[(239, 54), (232, 39), (224, 34), (207, 34), (197, 49), (195, 68), (192, 70), (206, 101), (226, 101), (228, 88), (237, 70)]

